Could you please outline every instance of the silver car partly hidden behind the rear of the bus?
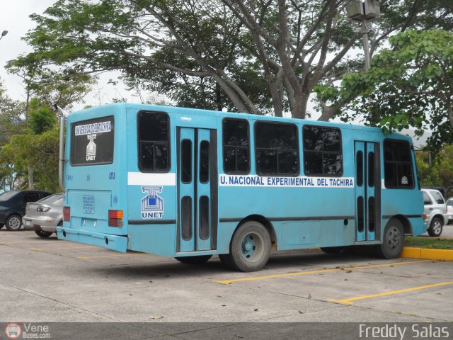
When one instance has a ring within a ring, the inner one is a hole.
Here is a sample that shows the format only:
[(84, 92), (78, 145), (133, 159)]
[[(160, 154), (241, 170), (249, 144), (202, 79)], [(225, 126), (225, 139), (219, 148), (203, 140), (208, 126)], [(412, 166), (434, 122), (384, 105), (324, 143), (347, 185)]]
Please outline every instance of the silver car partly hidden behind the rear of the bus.
[(42, 198), (38, 202), (27, 203), (22, 223), (25, 229), (35, 230), (39, 237), (50, 237), (57, 232), (57, 225), (63, 225), (64, 194)]

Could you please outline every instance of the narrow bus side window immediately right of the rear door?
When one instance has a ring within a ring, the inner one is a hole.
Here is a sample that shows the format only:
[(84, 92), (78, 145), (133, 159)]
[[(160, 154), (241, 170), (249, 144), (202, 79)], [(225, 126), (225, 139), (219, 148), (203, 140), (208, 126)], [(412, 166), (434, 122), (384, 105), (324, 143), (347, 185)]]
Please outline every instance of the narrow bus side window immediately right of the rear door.
[(225, 173), (248, 174), (250, 138), (247, 120), (225, 118), (222, 130)]

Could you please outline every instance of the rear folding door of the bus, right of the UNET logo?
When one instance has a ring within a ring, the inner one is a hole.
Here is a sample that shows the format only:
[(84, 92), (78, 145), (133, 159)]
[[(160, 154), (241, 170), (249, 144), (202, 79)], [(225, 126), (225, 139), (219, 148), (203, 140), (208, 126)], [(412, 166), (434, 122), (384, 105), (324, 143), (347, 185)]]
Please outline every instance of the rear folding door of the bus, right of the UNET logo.
[(217, 130), (177, 128), (176, 251), (217, 249)]

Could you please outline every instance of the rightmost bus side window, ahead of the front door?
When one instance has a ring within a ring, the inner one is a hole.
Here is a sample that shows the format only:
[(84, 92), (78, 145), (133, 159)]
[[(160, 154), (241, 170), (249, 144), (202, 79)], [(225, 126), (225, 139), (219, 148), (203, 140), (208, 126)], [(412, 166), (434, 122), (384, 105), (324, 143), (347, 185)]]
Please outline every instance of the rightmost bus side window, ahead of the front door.
[(386, 188), (413, 188), (411, 147), (403, 140), (384, 140), (384, 183)]

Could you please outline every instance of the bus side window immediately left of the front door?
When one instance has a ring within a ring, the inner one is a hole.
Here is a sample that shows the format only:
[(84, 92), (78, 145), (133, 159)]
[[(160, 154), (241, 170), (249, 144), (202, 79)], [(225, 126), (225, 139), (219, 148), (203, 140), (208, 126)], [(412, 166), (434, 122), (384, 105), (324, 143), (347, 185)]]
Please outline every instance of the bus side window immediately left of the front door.
[(303, 140), (306, 175), (343, 175), (343, 152), (339, 128), (304, 125)]

